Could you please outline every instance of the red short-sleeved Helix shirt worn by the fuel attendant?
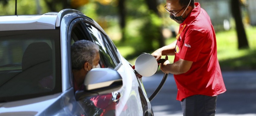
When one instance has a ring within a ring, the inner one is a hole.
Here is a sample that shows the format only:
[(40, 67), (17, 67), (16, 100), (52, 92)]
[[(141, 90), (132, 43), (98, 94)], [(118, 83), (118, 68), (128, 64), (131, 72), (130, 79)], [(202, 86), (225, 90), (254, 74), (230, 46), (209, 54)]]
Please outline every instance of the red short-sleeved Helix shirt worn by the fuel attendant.
[(179, 59), (193, 61), (188, 72), (174, 75), (179, 101), (196, 94), (216, 96), (226, 91), (211, 19), (199, 3), (195, 3), (195, 6), (180, 24), (180, 29), (184, 24), (186, 27), (177, 40), (174, 62)]

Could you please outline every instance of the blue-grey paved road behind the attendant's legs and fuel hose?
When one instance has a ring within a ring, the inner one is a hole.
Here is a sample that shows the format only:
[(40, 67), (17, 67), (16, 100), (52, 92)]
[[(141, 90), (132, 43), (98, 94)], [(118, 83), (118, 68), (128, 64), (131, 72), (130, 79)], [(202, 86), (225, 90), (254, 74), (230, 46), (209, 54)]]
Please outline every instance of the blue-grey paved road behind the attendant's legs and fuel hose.
[[(148, 97), (162, 80), (163, 73), (142, 77)], [(256, 71), (222, 72), (227, 91), (218, 95), (215, 116), (256, 116)], [(182, 116), (173, 75), (151, 101), (155, 116)]]

